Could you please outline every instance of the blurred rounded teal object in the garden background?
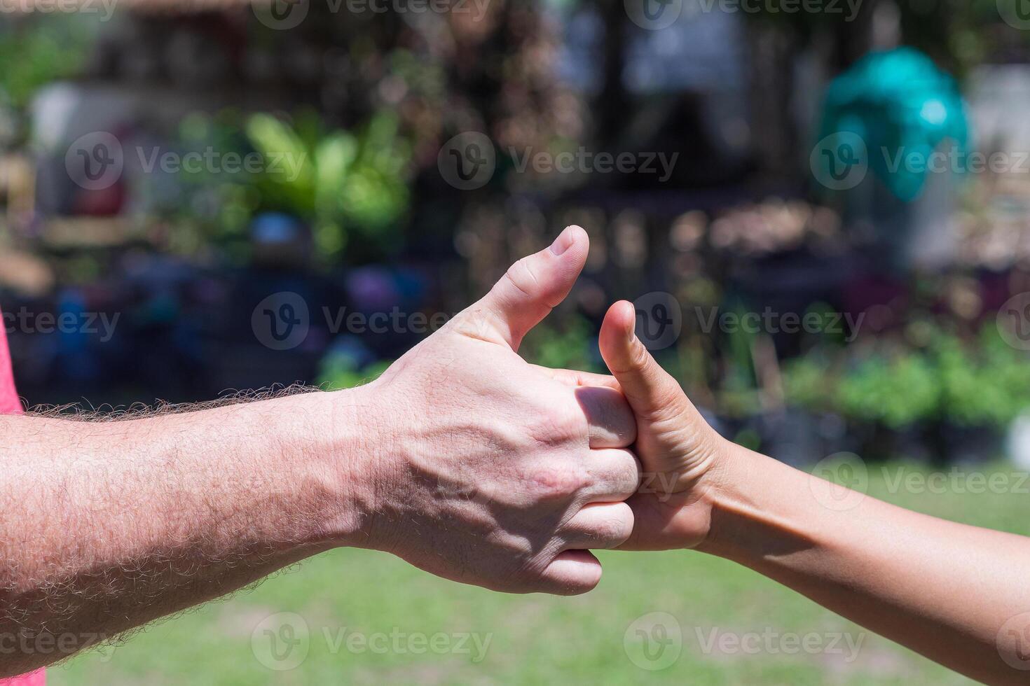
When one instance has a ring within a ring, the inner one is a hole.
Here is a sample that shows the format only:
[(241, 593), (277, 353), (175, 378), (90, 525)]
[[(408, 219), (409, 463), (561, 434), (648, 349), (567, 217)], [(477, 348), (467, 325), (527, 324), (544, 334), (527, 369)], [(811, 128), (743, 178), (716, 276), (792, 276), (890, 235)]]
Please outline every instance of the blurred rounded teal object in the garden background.
[(869, 171), (904, 202), (919, 196), (941, 142), (950, 141), (938, 151), (947, 156), (933, 158), (934, 169), (966, 169), (968, 122), (958, 84), (912, 47), (870, 52), (833, 79), (819, 138), (843, 132), (864, 141)]

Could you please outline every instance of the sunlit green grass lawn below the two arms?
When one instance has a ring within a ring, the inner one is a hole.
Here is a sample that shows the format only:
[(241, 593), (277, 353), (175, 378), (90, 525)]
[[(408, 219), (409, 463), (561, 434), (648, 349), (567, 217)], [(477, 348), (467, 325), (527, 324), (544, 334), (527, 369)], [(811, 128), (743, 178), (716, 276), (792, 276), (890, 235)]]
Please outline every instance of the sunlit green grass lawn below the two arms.
[[(880, 468), (870, 471), (870, 494), (877, 497), (1030, 534), (1030, 497), (1022, 493), (1030, 484), (1004, 494), (891, 493)], [(253, 591), (154, 625), (125, 645), (76, 657), (52, 670), (49, 679), (55, 686), (971, 683), (730, 563), (685, 551), (600, 557), (605, 578), (594, 592), (558, 599), (490, 593), (430, 577), (389, 555), (341, 550)], [(280, 612), (301, 615), (308, 626), (307, 641), (297, 644), (296, 652), (282, 653), (286, 661), (273, 662), (289, 666), (306, 646), (306, 658), (288, 671), (271, 670), (259, 659), (270, 660), (262, 622)], [(638, 666), (629, 654), (655, 666), (675, 656), (673, 647), (647, 662), (634, 638), (640, 623), (626, 640), (630, 624), (653, 612), (672, 615), (682, 633), (679, 658), (658, 671)], [(363, 650), (351, 638), (355, 633), (375, 650)], [(455, 638), (473, 634), (479, 647), (473, 639)], [(815, 649), (788, 654), (796, 645), (791, 634), (809, 635)], [(755, 642), (749, 638), (754, 635), (768, 638)], [(418, 642), (423, 637), (425, 644)], [(706, 650), (713, 638), (726, 637), (743, 637), (748, 649), (724, 644), (724, 650)], [(857, 643), (857, 654), (848, 640)], [(423, 654), (414, 653), (419, 649)]]

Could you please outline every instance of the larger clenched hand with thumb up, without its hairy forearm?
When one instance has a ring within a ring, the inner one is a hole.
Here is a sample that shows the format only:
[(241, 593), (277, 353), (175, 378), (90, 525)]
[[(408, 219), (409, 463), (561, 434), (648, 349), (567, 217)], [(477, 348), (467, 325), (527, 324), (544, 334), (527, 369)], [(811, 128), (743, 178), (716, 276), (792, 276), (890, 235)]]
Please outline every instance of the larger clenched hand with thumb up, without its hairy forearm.
[(362, 390), (376, 410), (369, 547), (495, 590), (597, 584), (588, 549), (617, 547), (633, 527), (623, 502), (639, 483), (624, 449), (632, 413), (618, 391), (516, 354), (568, 295), (588, 249), (582, 228), (566, 228)]

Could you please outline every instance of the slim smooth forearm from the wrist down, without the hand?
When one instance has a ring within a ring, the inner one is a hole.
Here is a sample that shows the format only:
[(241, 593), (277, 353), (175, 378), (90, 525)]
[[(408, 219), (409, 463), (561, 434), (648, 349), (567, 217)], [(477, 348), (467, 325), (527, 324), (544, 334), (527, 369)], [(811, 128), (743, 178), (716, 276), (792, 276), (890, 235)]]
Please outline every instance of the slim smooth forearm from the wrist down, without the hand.
[(814, 476), (727, 449), (701, 549), (974, 679), (1026, 683), (1012, 664), (1030, 667), (1030, 615), (1014, 617), (1030, 612), (1030, 539), (848, 500)]

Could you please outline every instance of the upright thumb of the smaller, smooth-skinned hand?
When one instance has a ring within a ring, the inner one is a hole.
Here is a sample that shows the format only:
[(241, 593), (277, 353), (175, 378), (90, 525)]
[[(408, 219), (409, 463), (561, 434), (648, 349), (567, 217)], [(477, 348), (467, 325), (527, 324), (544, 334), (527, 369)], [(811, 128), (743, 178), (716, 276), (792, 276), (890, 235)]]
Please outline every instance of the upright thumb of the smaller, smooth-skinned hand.
[(631, 302), (616, 302), (600, 326), (600, 355), (622, 387), (638, 416), (655, 418), (682, 411), (683, 389), (651, 357), (637, 337), (637, 310)]

